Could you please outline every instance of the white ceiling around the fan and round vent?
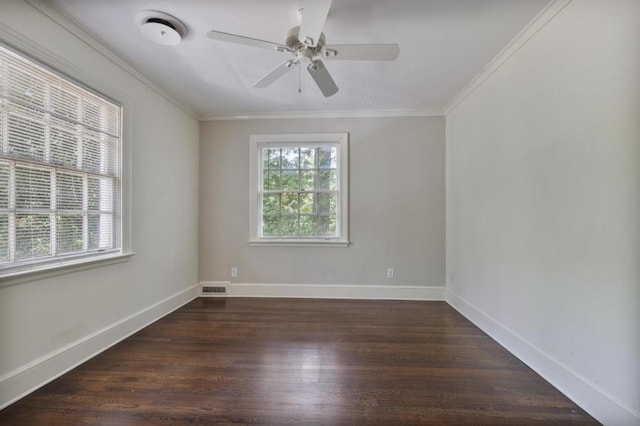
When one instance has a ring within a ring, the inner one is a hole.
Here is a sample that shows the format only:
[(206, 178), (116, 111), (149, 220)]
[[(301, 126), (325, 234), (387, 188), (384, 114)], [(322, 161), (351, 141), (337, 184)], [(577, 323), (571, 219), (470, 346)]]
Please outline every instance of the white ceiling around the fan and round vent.
[[(306, 72), (252, 87), (289, 54), (210, 40), (209, 30), (284, 42), (302, 0), (51, 0), (65, 15), (201, 116), (311, 111), (442, 110), (549, 0), (333, 0), (327, 44), (398, 43), (394, 62), (326, 61), (340, 91)], [(159, 10), (189, 34), (147, 39), (134, 15)], [(298, 67), (299, 68), (299, 67)], [(303, 70), (304, 71), (304, 70)]]

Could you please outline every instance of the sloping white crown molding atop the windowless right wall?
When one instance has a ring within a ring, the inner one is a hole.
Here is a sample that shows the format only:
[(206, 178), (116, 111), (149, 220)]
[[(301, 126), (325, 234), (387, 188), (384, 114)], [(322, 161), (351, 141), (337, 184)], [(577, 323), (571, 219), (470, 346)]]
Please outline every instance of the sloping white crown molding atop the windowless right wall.
[(511, 56), (544, 28), (573, 0), (553, 0), (538, 13), (485, 67), (476, 75), (451, 101), (444, 107), (444, 114), (449, 115), (485, 80), (504, 65)]

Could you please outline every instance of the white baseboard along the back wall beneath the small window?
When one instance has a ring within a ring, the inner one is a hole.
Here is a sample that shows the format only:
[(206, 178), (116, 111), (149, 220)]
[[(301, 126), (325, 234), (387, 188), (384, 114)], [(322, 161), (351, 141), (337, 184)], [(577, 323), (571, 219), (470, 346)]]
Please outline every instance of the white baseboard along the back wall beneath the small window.
[[(216, 285), (217, 282), (212, 282)], [(201, 282), (208, 285), (209, 282)], [(444, 287), (411, 285), (250, 284), (228, 283), (227, 297), (320, 299), (444, 300)]]

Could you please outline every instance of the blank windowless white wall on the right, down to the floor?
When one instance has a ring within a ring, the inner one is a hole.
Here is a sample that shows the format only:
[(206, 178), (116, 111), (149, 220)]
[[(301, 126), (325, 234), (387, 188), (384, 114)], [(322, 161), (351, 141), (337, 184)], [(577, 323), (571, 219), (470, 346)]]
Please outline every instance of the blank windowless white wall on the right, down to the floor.
[(447, 115), (448, 300), (640, 424), (640, 2), (574, 0)]

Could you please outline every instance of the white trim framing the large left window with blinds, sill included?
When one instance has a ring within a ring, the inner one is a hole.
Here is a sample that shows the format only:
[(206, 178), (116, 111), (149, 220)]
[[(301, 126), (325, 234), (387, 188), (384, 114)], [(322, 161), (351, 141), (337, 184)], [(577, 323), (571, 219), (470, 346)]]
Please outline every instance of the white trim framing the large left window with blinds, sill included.
[(95, 76), (81, 71), (72, 62), (62, 59), (11, 28), (0, 27), (0, 42), (16, 52), (39, 62), (45, 68), (49, 68), (62, 76), (67, 76), (87, 90), (112, 99), (121, 106), (121, 152), (119, 162), (121, 188), (118, 199), (120, 203), (120, 247), (106, 251), (104, 254), (91, 253), (70, 256), (69, 258), (58, 258), (49, 263), (42, 262), (5, 268), (0, 272), (0, 287), (128, 261), (135, 255), (131, 245), (131, 123), (133, 102), (130, 96), (109, 84), (105, 84)]

